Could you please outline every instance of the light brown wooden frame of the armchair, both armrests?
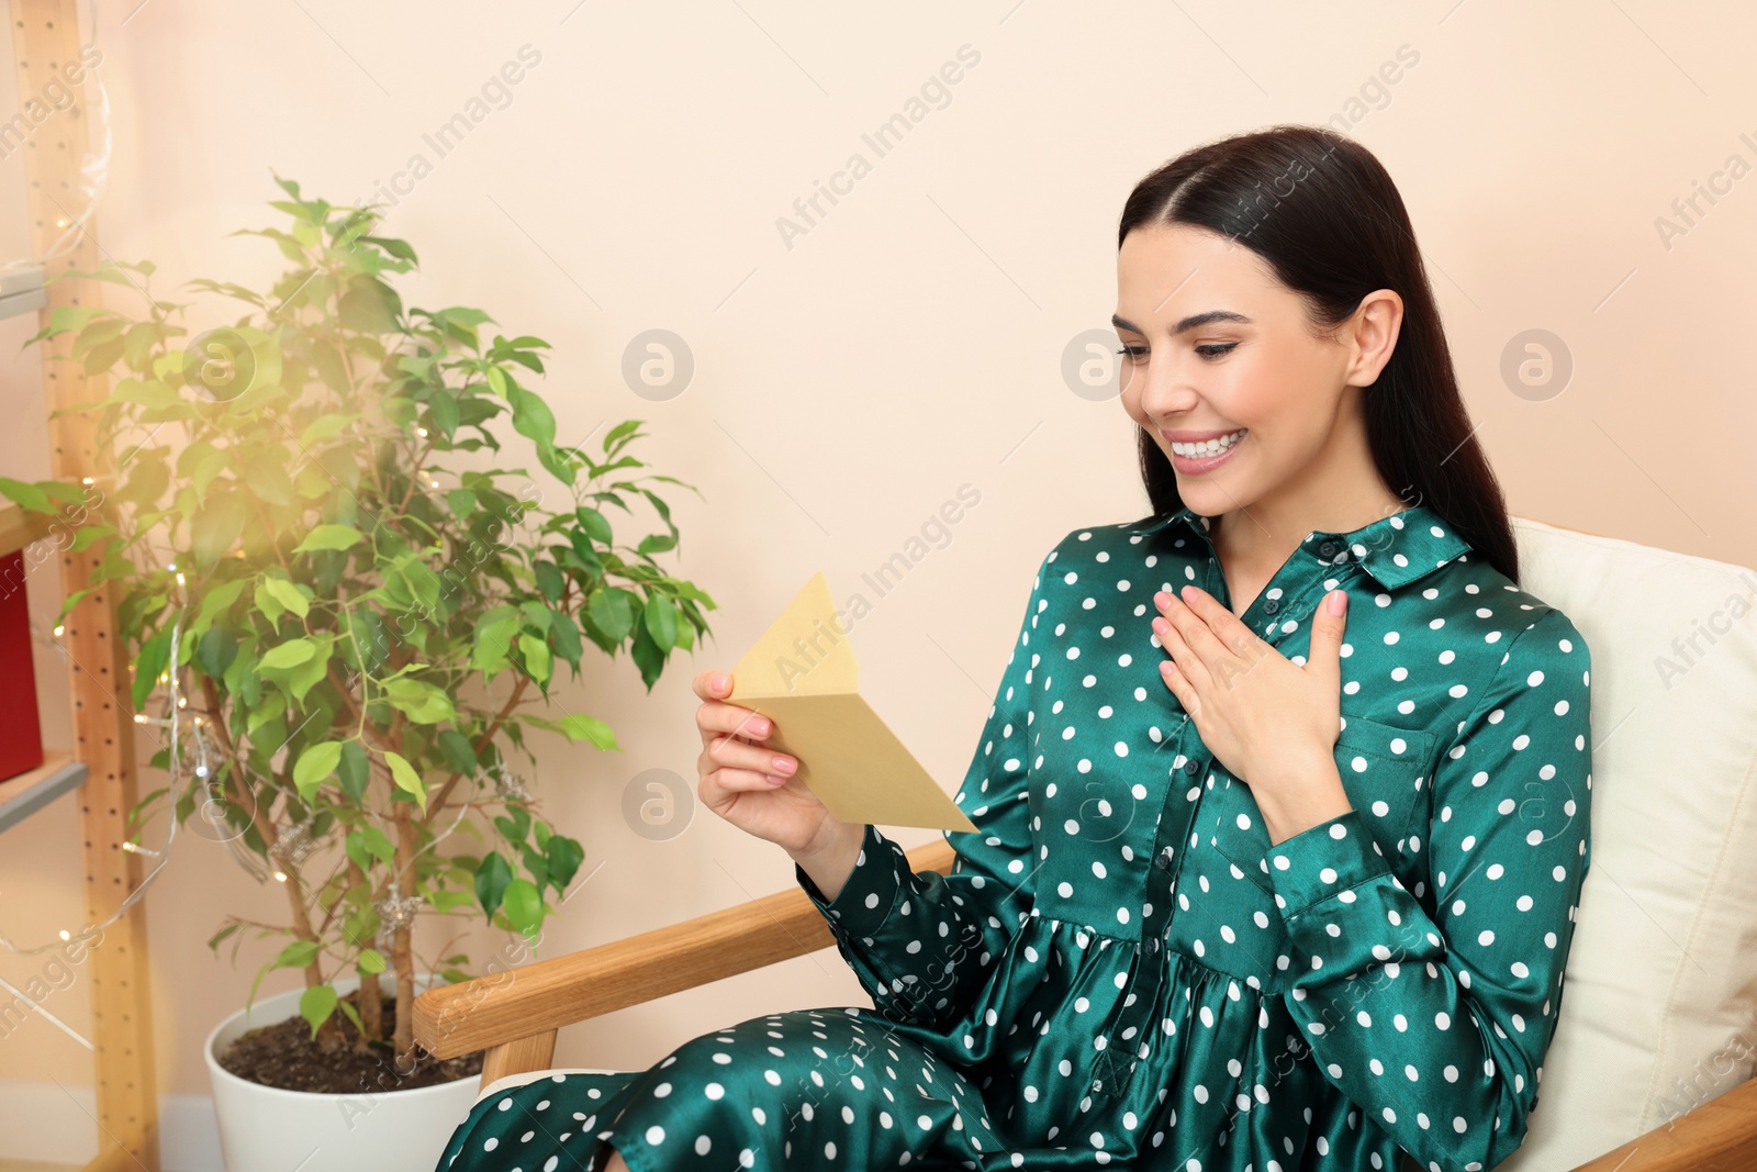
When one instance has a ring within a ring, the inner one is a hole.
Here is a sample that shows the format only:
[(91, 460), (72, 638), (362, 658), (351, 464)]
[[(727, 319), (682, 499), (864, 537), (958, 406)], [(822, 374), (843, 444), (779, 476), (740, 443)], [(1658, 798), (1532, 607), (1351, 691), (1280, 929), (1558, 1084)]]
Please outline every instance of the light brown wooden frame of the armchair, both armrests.
[[(945, 873), (944, 838), (908, 852)], [(415, 1040), (439, 1058), (487, 1051), (481, 1084), (545, 1070), (560, 1026), (763, 968), (835, 938), (798, 887), (627, 940), (443, 986), (415, 1002)], [(1757, 1168), (1757, 1079), (1629, 1140), (1574, 1172), (1750, 1172)]]

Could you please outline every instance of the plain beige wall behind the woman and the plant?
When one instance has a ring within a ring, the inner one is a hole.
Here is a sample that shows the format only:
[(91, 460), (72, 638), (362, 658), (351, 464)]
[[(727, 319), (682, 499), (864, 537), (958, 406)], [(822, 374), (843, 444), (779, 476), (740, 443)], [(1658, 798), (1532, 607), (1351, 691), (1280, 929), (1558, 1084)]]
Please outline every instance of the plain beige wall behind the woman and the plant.
[[(276, 250), (225, 234), (271, 221), (271, 167), (350, 202), (422, 153), (432, 172), (385, 225), (423, 262), (409, 300), (483, 306), (550, 339), (543, 390), (564, 438), (647, 418), (638, 453), (701, 487), (673, 494), (676, 566), (720, 601), (715, 643), (650, 696), (625, 657), (564, 689), (625, 754), (536, 742), (546, 810), (587, 868), (603, 863), (550, 933), (585, 947), (792, 882), (780, 850), (708, 814), (669, 842), (636, 836), (624, 787), (650, 768), (692, 785), (692, 673), (729, 668), (819, 569), (838, 597), (863, 590), (968, 483), (979, 504), (856, 634), (866, 694), (956, 785), (1038, 559), (1077, 525), (1147, 511), (1121, 406), (1072, 394), (1059, 358), (1114, 309), (1133, 181), (1212, 135), (1341, 116), (1379, 153), (1516, 513), (1757, 562), (1757, 177), (1669, 248), (1655, 227), (1729, 156), (1757, 163), (1757, 21), (1734, 5), (1258, 7), (104, 5), (116, 146), (98, 241), (155, 260), (160, 295), (195, 276), (260, 285)], [(525, 44), (541, 61), (511, 104), (436, 158), (422, 135)], [(850, 153), (873, 160), (861, 135), (966, 44), (980, 60), (944, 109), (789, 248), (777, 218)], [(1400, 46), (1416, 63), (1374, 93)], [(21, 158), (0, 160), (7, 257), (28, 251)], [(207, 302), (195, 323), (220, 315)], [(624, 346), (654, 327), (696, 357), (668, 402), (620, 378)], [(19, 351), (33, 329), (0, 327), (0, 471), (23, 478), (47, 474), (40, 358)], [(1499, 374), (1527, 329), (1574, 358), (1548, 402)], [(53, 576), (33, 589), (46, 631)], [(46, 643), (37, 684), (65, 743), (67, 673)], [(28, 944), (74, 924), (79, 873), (72, 801), (0, 838), (0, 931)], [(276, 917), (279, 894), (181, 840), (148, 900), (162, 1089), (206, 1093), (199, 1040), (248, 989), (253, 965), (202, 942), (225, 912)], [(478, 956), (495, 945), (476, 935)], [(39, 970), (0, 956), (14, 982)], [(79, 982), (49, 1005), (84, 1030), (84, 998)], [(741, 1017), (847, 1003), (864, 998), (826, 951), (568, 1031), (559, 1061), (645, 1067)], [(0, 1079), (51, 1077), (90, 1081), (84, 1053), (42, 1023), (0, 1042)]]

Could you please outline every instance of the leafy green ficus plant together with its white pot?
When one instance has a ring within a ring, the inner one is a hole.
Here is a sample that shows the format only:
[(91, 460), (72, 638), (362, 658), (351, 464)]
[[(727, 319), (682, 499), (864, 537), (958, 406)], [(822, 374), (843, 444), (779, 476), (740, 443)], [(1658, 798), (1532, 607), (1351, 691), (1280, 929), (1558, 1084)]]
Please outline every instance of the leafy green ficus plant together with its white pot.
[[(304, 980), (209, 1040), (232, 1172), (292, 1167), (293, 1147), (293, 1163), (322, 1147), (323, 1168), (429, 1168), (480, 1056), (416, 1053), (418, 984), (469, 961), (418, 956), (415, 922), (485, 915), (536, 942), (583, 850), (513, 754), (529, 757), (531, 729), (620, 750), (601, 720), (546, 706), (560, 668), (627, 648), (650, 691), (715, 604), (655, 561), (678, 531), (650, 483), (692, 487), (636, 474), (641, 420), (597, 453), (560, 443), (525, 387), (548, 343), (483, 341), (480, 309), (404, 307), (392, 279), (415, 250), (374, 235), (374, 209), (278, 183), (290, 223), (255, 234), (290, 262), (279, 279), (190, 283), (242, 302), (228, 327), (186, 341), (186, 306), (148, 292), (151, 264), (79, 274), (139, 292), (142, 316), (63, 307), (30, 341), (72, 334), (72, 360), (112, 374), (83, 409), (116, 471), (0, 490), (46, 513), (90, 506), (72, 541), (100, 546), (135, 720), (177, 733), (153, 757), (172, 784), (137, 824), (169, 803), (285, 887), (285, 924), (230, 915), (211, 940), (234, 958), (246, 937), (278, 942), (251, 1002), (274, 970)], [(643, 529), (641, 501), (659, 525), (618, 541), (617, 525)], [(401, 1102), (436, 1114), (404, 1121)]]

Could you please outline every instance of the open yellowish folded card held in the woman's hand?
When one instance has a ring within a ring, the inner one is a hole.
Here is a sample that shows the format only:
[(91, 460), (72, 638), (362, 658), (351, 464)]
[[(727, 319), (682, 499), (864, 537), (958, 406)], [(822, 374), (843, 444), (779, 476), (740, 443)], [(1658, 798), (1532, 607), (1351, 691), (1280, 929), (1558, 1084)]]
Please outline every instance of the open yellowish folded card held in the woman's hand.
[(838, 821), (973, 831), (938, 782), (861, 699), (859, 666), (822, 571), (733, 668), (727, 701), (775, 720), (761, 742)]

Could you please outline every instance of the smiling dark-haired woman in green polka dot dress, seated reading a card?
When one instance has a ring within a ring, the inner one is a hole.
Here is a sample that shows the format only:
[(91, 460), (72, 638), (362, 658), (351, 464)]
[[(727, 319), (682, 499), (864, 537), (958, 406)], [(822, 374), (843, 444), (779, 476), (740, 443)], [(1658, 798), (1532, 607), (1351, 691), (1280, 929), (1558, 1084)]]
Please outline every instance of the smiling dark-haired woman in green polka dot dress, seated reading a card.
[(1044, 557), (952, 873), (829, 817), (727, 676), (696, 684), (703, 801), (791, 854), (875, 1009), (490, 1095), (441, 1167), (1520, 1146), (1590, 857), (1592, 664), (1516, 585), (1402, 200), (1358, 144), (1277, 127), (1142, 179), (1117, 239), (1153, 515)]

